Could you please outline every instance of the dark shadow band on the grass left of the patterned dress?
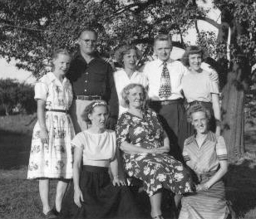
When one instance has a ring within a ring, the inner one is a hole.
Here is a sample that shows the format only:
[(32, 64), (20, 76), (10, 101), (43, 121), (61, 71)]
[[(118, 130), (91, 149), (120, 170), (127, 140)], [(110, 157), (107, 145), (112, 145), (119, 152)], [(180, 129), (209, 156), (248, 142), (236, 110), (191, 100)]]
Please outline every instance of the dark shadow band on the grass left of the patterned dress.
[(32, 136), (0, 129), (0, 168), (27, 166)]

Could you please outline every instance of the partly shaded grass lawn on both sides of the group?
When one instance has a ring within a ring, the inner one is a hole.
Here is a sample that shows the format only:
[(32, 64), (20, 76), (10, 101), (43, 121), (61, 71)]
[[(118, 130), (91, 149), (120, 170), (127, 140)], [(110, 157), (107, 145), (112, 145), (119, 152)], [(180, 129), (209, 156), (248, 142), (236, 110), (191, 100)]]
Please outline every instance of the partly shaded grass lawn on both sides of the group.
[[(0, 117), (0, 218), (35, 219), (41, 216), (42, 204), (37, 181), (27, 180), (33, 115)], [(225, 178), (227, 198), (239, 218), (256, 218), (256, 128), (246, 128), (245, 153), (229, 165)], [(51, 184), (54, 200), (56, 182)], [(144, 203), (144, 202), (142, 202)]]

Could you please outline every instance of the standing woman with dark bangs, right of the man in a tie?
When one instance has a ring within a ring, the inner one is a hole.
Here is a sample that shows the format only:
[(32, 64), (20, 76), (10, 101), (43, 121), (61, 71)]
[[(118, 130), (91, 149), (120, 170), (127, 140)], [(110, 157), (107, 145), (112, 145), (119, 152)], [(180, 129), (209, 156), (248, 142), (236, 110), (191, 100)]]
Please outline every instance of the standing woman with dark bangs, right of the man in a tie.
[[(212, 117), (209, 129), (220, 134), (220, 106), (219, 85), (210, 80), (209, 72), (201, 68), (204, 51), (199, 46), (188, 46), (182, 58), (183, 64), (190, 70), (190, 74), (183, 76), (181, 87), (189, 105), (200, 104), (210, 110)], [(191, 133), (192, 134), (192, 133)]]

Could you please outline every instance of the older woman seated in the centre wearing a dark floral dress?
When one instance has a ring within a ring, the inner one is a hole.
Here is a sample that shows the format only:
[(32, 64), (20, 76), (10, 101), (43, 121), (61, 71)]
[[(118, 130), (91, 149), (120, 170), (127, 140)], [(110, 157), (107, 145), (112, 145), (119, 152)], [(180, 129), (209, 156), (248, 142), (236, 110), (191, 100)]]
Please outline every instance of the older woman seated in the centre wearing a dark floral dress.
[(162, 219), (161, 188), (176, 194), (193, 192), (192, 178), (182, 163), (168, 153), (170, 143), (157, 115), (145, 110), (145, 88), (126, 85), (122, 97), (128, 111), (117, 122), (117, 144), (123, 151), (124, 168), (130, 177), (139, 178), (150, 197), (151, 217)]

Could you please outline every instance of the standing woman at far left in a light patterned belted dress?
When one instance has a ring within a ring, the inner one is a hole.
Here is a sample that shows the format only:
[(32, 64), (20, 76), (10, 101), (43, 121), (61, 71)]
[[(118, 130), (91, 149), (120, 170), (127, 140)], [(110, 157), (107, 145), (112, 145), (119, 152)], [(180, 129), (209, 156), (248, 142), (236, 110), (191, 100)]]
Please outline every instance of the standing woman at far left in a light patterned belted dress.
[[(62, 207), (66, 186), (72, 178), (71, 139), (75, 135), (68, 114), (73, 99), (71, 83), (65, 74), (71, 57), (66, 50), (52, 56), (52, 72), (43, 75), (35, 85), (37, 124), (33, 129), (28, 164), (28, 179), (39, 180), (42, 214), (56, 218)], [(55, 207), (49, 205), (49, 179), (57, 179)]]

